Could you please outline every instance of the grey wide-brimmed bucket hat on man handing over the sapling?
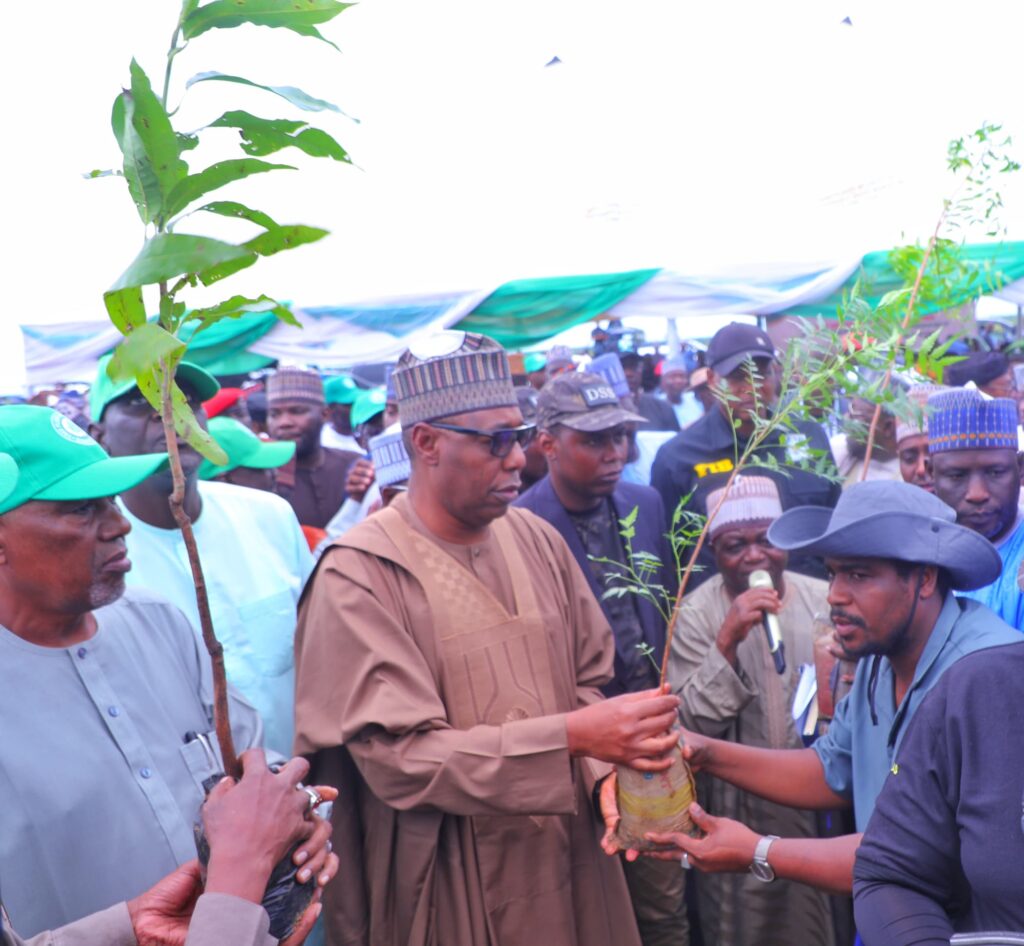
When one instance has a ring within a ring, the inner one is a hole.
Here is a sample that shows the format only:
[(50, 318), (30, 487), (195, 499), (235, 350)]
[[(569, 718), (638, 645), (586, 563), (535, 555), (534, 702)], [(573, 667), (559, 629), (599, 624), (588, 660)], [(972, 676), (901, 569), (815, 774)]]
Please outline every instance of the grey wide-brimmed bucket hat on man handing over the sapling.
[(920, 486), (892, 480), (855, 483), (835, 509), (791, 509), (771, 524), (768, 541), (791, 552), (938, 565), (957, 591), (990, 585), (1002, 570), (995, 547), (957, 525), (945, 503)]

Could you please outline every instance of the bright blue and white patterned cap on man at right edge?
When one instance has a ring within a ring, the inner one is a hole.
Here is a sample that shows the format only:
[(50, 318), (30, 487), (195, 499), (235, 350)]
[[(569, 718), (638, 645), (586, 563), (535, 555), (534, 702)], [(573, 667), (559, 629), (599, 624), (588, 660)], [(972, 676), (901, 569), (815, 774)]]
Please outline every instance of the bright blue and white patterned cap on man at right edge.
[(1017, 401), (951, 388), (928, 398), (928, 453), (1017, 449)]

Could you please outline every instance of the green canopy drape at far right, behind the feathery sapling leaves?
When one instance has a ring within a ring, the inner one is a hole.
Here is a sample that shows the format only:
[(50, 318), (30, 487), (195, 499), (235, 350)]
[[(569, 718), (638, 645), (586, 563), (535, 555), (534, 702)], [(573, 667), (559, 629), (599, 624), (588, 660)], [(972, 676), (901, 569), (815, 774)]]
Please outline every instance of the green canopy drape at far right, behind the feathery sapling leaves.
[[(967, 244), (957, 252), (968, 264), (969, 273), (958, 285), (950, 287), (948, 305), (923, 302), (918, 306), (921, 314), (963, 305), (1024, 277), (1024, 243)], [(902, 280), (890, 264), (890, 251), (868, 253), (858, 271), (840, 290), (816, 302), (787, 309), (783, 314), (834, 318), (843, 304), (843, 296), (853, 289), (857, 280), (860, 281), (861, 296), (871, 305), (878, 305), (886, 293), (903, 287)]]

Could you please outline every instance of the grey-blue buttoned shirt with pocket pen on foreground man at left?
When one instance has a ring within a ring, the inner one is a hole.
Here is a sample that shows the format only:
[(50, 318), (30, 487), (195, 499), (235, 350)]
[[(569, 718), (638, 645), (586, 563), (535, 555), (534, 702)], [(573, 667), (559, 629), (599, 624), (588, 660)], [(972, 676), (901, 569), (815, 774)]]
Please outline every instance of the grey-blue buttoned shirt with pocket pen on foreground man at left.
[[(0, 627), (0, 890), (23, 936), (130, 899), (196, 856), (203, 780), (220, 769), (209, 660), (185, 616), (129, 591), (96, 634), (39, 647)], [(259, 745), (231, 700), (236, 748)]]

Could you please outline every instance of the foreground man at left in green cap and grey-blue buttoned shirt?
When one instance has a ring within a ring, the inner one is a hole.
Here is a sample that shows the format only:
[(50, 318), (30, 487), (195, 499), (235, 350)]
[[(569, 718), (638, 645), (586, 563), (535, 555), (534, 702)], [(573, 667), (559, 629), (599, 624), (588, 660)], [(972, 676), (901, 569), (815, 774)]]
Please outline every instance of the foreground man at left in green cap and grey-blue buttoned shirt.
[[(193, 860), (202, 782), (222, 768), (196, 635), (125, 592), (131, 526), (113, 497), (166, 466), (111, 458), (48, 407), (0, 406), (0, 875), (26, 935), (103, 910), (119, 920), (104, 942), (133, 941), (131, 907), (113, 905)], [(238, 747), (258, 746), (256, 712), (231, 704)], [(165, 890), (182, 916), (194, 873)]]

